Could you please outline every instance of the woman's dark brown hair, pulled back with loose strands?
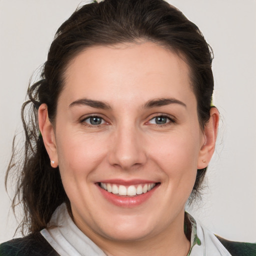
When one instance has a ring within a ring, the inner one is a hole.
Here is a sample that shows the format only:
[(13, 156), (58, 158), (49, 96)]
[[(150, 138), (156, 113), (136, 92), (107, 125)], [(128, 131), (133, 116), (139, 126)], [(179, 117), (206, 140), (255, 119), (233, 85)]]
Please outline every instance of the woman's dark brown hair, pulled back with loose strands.
[[(12, 208), (24, 210), (19, 225), (22, 233), (35, 233), (46, 227), (53, 211), (62, 202), (70, 203), (64, 191), (59, 169), (53, 169), (37, 124), (37, 109), (46, 103), (54, 125), (56, 105), (69, 61), (81, 50), (94, 45), (152, 41), (182, 56), (190, 69), (190, 81), (197, 99), (200, 127), (209, 119), (213, 76), (212, 50), (199, 28), (181, 11), (164, 0), (93, 1), (77, 8), (57, 29), (40, 80), (30, 84), (29, 99), (23, 103), (21, 117), (25, 133), (23, 154), (16, 161), (14, 143), (5, 177), (12, 171), (16, 192)], [(190, 201), (200, 195), (206, 168), (198, 169)]]

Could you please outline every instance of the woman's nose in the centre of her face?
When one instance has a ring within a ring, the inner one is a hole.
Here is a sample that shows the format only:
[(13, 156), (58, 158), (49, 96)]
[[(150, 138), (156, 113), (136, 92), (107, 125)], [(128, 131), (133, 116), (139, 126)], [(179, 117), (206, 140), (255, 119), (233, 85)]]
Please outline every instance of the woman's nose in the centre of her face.
[(113, 132), (108, 154), (111, 165), (129, 170), (146, 162), (143, 135), (134, 126), (122, 125)]

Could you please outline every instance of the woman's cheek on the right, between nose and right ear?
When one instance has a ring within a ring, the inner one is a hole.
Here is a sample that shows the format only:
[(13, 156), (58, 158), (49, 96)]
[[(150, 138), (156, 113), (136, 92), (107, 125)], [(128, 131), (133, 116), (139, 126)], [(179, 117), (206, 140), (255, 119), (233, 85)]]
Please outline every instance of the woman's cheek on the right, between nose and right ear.
[(165, 172), (171, 189), (186, 184), (187, 192), (190, 191), (197, 171), (200, 134), (176, 132), (155, 137), (151, 142), (150, 157)]

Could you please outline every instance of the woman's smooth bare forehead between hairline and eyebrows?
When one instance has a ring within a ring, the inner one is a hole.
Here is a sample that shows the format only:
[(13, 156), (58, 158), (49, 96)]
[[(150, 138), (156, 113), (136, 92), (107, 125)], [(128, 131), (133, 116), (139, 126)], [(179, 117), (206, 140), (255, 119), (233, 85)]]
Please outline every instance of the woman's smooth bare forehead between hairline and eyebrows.
[[(187, 64), (172, 51), (152, 42), (93, 46), (67, 66), (60, 96), (97, 100), (177, 97), (191, 94)], [(193, 94), (193, 93), (192, 93)]]

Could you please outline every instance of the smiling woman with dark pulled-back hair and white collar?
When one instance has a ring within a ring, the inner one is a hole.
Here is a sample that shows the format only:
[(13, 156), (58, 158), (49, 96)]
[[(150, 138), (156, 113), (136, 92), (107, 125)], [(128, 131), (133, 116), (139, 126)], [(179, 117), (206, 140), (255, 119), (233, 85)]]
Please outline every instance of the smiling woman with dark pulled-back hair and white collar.
[(75, 11), (23, 105), (33, 115), (16, 196), (30, 235), (1, 255), (253, 255), (184, 212), (216, 140), (211, 60), (164, 1)]

